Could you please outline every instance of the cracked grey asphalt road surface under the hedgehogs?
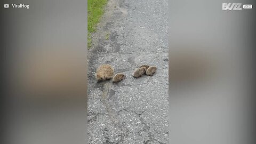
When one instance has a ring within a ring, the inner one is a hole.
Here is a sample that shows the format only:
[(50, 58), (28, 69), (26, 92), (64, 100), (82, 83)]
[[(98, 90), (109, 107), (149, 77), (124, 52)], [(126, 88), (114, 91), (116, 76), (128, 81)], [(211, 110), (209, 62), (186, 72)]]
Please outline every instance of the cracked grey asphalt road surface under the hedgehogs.
[[(105, 11), (88, 56), (88, 143), (168, 143), (167, 0), (109, 0)], [(103, 63), (126, 78), (97, 83)], [(156, 73), (134, 78), (143, 64)]]

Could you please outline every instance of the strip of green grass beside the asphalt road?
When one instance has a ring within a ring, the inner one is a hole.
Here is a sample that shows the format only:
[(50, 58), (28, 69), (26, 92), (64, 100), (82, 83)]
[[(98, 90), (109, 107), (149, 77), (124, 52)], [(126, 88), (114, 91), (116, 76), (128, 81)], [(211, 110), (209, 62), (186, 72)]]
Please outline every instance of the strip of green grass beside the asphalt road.
[(100, 22), (101, 16), (104, 13), (104, 6), (107, 0), (87, 0), (88, 4), (88, 47), (91, 47), (91, 33), (96, 31), (96, 26)]

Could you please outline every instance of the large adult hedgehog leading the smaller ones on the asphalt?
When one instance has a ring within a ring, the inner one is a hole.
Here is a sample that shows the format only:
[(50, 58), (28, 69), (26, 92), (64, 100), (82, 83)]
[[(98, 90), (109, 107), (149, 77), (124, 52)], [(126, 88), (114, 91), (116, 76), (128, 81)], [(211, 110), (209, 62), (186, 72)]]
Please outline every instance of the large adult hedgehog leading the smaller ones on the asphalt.
[(105, 81), (106, 79), (111, 79), (114, 75), (114, 68), (111, 65), (101, 65), (96, 70), (95, 77), (98, 81)]

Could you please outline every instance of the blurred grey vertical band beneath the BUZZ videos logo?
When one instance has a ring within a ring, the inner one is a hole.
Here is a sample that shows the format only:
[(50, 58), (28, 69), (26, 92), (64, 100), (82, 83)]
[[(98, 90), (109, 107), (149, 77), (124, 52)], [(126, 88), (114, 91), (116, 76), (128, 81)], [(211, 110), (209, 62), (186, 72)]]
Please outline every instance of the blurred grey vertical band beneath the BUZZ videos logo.
[(169, 143), (253, 143), (255, 9), (169, 1)]

